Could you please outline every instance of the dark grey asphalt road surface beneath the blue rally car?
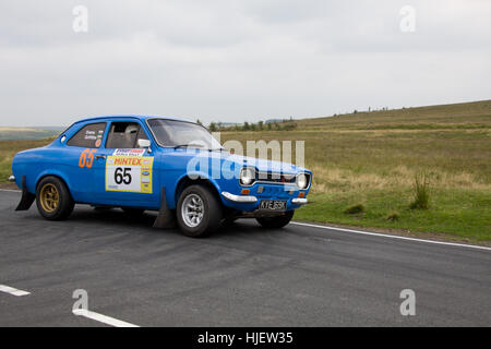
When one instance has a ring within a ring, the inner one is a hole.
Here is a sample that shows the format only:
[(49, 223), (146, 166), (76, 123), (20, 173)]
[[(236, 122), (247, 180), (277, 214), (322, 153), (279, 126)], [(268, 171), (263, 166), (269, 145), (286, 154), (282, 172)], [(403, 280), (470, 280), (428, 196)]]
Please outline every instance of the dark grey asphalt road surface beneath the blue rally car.
[(491, 251), (254, 220), (195, 240), (119, 209), (49, 222), (19, 198), (0, 192), (0, 285), (31, 294), (0, 292), (0, 326), (106, 326), (72, 314), (75, 289), (139, 326), (491, 325)]

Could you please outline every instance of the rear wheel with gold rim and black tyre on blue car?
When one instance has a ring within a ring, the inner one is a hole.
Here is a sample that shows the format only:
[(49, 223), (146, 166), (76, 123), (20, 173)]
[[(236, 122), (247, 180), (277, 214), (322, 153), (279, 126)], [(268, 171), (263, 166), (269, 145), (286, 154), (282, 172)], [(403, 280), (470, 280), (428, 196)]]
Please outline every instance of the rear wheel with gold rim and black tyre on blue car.
[(75, 203), (64, 182), (58, 177), (41, 179), (36, 188), (36, 206), (48, 220), (63, 220), (73, 212)]

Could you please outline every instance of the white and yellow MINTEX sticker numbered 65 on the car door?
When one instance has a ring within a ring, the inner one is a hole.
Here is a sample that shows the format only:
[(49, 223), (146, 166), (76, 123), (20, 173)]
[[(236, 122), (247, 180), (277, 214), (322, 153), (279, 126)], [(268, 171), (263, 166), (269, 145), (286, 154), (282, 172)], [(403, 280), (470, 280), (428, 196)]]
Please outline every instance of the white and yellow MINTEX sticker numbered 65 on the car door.
[(152, 194), (153, 157), (108, 156), (106, 191)]

